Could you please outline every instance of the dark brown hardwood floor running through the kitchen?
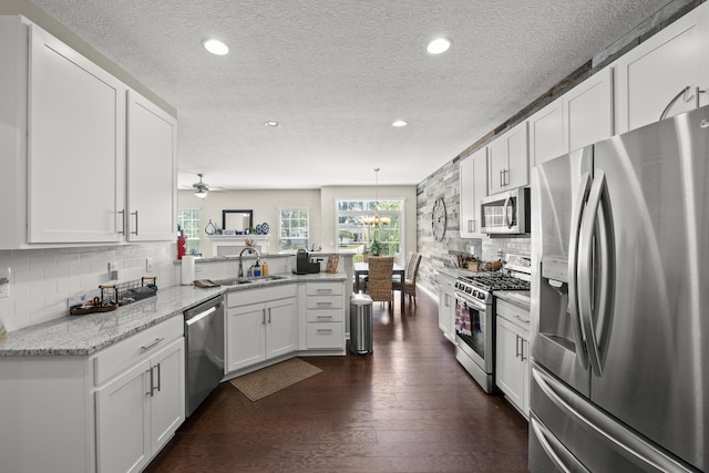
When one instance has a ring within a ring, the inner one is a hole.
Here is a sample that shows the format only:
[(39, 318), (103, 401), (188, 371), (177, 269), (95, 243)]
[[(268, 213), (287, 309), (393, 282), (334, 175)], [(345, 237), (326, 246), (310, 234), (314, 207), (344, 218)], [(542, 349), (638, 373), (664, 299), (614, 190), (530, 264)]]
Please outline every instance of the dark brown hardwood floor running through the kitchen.
[(455, 361), (419, 291), (373, 305), (373, 353), (307, 357), (322, 369), (251, 402), (222, 383), (148, 472), (526, 472), (527, 423)]

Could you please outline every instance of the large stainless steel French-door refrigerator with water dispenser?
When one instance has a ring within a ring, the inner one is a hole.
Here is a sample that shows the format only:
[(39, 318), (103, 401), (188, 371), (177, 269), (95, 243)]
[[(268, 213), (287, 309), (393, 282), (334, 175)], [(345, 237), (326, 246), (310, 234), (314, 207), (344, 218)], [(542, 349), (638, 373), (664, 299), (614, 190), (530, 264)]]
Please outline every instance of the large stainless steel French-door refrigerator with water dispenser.
[(709, 107), (541, 164), (530, 470), (709, 470)]

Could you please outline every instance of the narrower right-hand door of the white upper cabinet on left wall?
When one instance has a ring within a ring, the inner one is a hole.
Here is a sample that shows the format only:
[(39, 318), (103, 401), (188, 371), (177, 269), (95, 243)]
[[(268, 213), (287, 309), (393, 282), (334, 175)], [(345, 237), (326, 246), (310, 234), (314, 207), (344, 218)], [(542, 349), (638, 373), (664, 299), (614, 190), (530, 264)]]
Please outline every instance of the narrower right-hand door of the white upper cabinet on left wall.
[(177, 123), (134, 91), (129, 91), (127, 123), (129, 239), (172, 240), (177, 234)]

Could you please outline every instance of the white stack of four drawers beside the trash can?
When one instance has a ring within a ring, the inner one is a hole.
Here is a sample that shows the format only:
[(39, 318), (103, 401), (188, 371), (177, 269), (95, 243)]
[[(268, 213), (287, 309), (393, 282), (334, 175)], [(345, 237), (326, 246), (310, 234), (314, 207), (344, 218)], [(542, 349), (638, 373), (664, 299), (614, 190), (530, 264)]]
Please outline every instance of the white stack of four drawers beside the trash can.
[(345, 286), (306, 284), (306, 348), (345, 350)]

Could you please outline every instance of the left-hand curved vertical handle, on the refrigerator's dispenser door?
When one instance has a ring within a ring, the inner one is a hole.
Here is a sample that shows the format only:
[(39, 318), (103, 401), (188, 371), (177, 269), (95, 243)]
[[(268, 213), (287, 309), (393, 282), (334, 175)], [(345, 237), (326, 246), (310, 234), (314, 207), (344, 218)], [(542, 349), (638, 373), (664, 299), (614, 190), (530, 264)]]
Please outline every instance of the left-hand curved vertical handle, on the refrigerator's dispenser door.
[(571, 316), (572, 331), (574, 333), (574, 345), (576, 348), (576, 359), (579, 364), (588, 369), (588, 356), (586, 354), (586, 343), (580, 326), (578, 312), (578, 282), (576, 281), (576, 267), (578, 266), (578, 239), (580, 233), (582, 217), (584, 215), (584, 204), (590, 187), (590, 175), (584, 173), (580, 176), (580, 185), (576, 194), (575, 206), (572, 209), (571, 243), (568, 245), (568, 315)]

